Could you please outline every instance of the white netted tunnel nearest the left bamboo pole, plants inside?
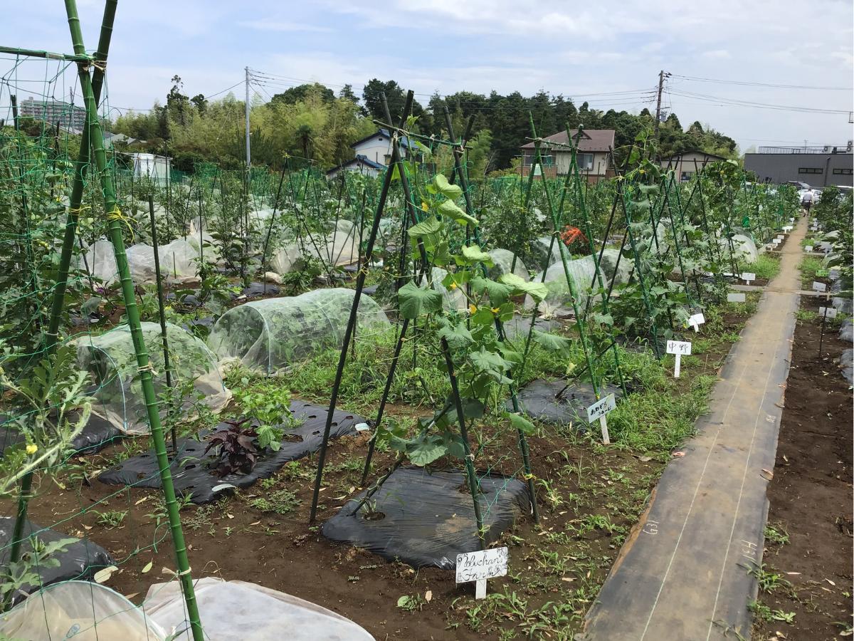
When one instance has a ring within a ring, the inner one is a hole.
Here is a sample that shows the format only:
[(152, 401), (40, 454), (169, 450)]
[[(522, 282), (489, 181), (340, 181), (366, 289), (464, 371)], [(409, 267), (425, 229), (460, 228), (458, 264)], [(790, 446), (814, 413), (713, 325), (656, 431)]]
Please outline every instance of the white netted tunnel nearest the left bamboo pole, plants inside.
[[(163, 366), (161, 328), (156, 323), (142, 323), (143, 340), (155, 369), (155, 391), (166, 388)], [(193, 380), (193, 387), (211, 409), (222, 408), (231, 396), (225, 389), (217, 368), (216, 357), (199, 339), (167, 323), (169, 362), (173, 385)], [(141, 434), (149, 429), (145, 400), (137, 372), (131, 332), (120, 326), (98, 336), (84, 336), (74, 341), (79, 367), (91, 374), (95, 387), (92, 412), (111, 422), (126, 434)], [(189, 403), (193, 399), (187, 399)]]

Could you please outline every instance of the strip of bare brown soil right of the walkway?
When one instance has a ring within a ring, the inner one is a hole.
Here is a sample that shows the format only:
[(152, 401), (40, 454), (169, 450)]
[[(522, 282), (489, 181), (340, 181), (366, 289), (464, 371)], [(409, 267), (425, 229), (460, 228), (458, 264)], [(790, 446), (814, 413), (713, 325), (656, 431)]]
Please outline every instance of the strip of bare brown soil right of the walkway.
[[(801, 309), (827, 304), (802, 297)], [(766, 569), (791, 583), (760, 593), (772, 610), (794, 613), (794, 623), (757, 621), (754, 638), (814, 641), (851, 638), (852, 493), (851, 390), (836, 361), (850, 343), (827, 327), (819, 354), (821, 320), (798, 321), (786, 388), (769, 525), (789, 541), (766, 540)], [(848, 631), (845, 634), (845, 631)]]

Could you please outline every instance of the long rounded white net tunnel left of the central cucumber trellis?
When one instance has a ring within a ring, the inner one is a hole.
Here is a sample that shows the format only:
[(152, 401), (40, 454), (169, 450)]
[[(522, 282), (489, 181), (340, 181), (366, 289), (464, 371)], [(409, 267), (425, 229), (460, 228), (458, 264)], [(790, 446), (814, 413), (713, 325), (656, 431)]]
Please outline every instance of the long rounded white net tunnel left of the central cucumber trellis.
[[(275, 372), (320, 350), (340, 348), (354, 294), (342, 288), (323, 289), (245, 303), (219, 318), (208, 346), (220, 359), (237, 358), (248, 368)], [(384, 332), (389, 326), (383, 309), (363, 294), (356, 335)]]

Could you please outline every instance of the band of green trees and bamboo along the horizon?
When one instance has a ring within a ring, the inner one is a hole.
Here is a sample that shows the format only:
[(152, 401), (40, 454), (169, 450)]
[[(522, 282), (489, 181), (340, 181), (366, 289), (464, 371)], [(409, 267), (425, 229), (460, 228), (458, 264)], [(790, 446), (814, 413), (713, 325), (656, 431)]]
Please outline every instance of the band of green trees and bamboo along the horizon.
[[(395, 80), (371, 79), (358, 97), (352, 86), (344, 85), (337, 95), (319, 83), (298, 85), (272, 95), (268, 101), (256, 97), (250, 105), (252, 162), (272, 168), (290, 162), (307, 162), (320, 169), (335, 167), (353, 158), (350, 144), (375, 132), (374, 121), (385, 121), (383, 92), (392, 115), (400, 114), (405, 91)], [(635, 136), (654, 125), (648, 109), (638, 114), (628, 111), (593, 109), (586, 102), (576, 104), (563, 96), (540, 91), (525, 97), (518, 91), (488, 96), (458, 91), (450, 96), (434, 94), (426, 106), (416, 102), (414, 130), (437, 138), (447, 138), (444, 109), (447, 106), (454, 133), (459, 137), (472, 119), (471, 162), (483, 175), (512, 166), (519, 147), (529, 141), (529, 115), (538, 135), (549, 136), (575, 129), (614, 129), (617, 162), (620, 162)], [(175, 166), (191, 171), (195, 162), (219, 162), (225, 168), (238, 168), (244, 160), (244, 103), (228, 94), (209, 101), (201, 94), (189, 97), (179, 76), (164, 104), (155, 103), (147, 112), (128, 112), (112, 124), (113, 131), (139, 141), (137, 150), (173, 156)], [(676, 114), (660, 123), (658, 150), (662, 156), (685, 150), (703, 150), (733, 158), (738, 150), (733, 138), (699, 121), (683, 129)]]

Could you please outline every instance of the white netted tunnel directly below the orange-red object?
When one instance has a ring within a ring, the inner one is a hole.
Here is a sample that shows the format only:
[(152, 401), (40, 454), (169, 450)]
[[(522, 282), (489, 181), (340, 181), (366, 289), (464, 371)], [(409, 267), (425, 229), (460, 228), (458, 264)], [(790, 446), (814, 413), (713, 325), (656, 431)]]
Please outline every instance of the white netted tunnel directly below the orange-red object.
[[(623, 285), (629, 282), (631, 262), (623, 258), (617, 268), (617, 257), (619, 255), (619, 250), (605, 250), (602, 253), (600, 273), (602, 274), (602, 283), (605, 287), (611, 283), (611, 279), (614, 279), (615, 285)], [(576, 302), (579, 305), (585, 305), (590, 285), (594, 283), (594, 275), (596, 273), (594, 257), (584, 256), (574, 261), (567, 261), (566, 267), (576, 290)], [(540, 282), (541, 279), (542, 273), (538, 273), (533, 280)], [(570, 285), (566, 282), (566, 273), (564, 272), (564, 263), (562, 261), (555, 262), (546, 270), (545, 283), (548, 287), (548, 296), (545, 303), (549, 309), (553, 311), (564, 309), (565, 311), (572, 308)], [(594, 283), (594, 289), (598, 286), (598, 282)], [(531, 297), (525, 297), (525, 308), (530, 309), (532, 307), (534, 307), (534, 300)]]

